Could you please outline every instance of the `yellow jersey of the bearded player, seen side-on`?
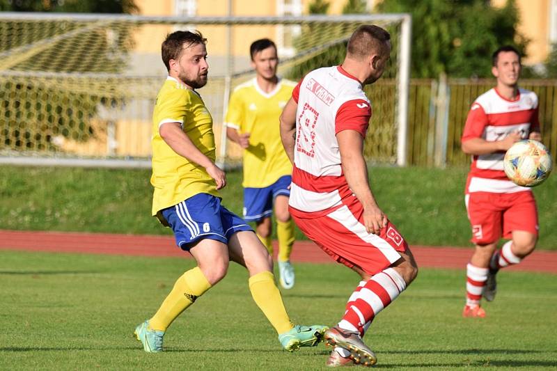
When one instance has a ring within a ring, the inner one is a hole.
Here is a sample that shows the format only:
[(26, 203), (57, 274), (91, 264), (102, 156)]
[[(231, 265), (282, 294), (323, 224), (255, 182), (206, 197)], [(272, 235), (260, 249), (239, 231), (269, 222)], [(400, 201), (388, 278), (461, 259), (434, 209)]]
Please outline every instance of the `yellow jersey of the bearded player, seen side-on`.
[(205, 168), (174, 152), (162, 139), (159, 128), (164, 123), (180, 123), (194, 145), (214, 161), (213, 120), (198, 93), (168, 77), (157, 95), (152, 121), (152, 215), (166, 226), (161, 210), (196, 194), (219, 193)]

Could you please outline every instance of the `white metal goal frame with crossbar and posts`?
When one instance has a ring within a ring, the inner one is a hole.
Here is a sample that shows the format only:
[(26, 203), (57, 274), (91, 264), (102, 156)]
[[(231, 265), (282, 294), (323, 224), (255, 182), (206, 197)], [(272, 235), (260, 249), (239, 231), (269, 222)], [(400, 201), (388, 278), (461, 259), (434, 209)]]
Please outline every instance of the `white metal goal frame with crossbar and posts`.
[[(83, 21), (83, 22), (122, 22), (132, 24), (218, 24), (227, 27), (227, 37), (230, 40), (232, 25), (249, 24), (285, 24), (297, 25), (302, 22), (313, 22), (315, 24), (340, 24), (345, 22), (400, 22), (400, 40), (398, 42), (398, 74), (396, 81), (395, 125), (397, 125), (396, 138), (396, 164), (405, 166), (407, 164), (407, 127), (408, 127), (408, 96), (410, 80), (410, 49), (411, 49), (411, 15), (408, 13), (384, 13), (369, 15), (305, 15), (305, 16), (282, 16), (282, 17), (152, 17), (144, 15), (97, 15), (84, 13), (19, 13), (2, 12), (0, 22), (17, 20), (22, 21)], [(6, 54), (0, 53), (1, 54)], [(226, 75), (223, 93), (223, 102), (228, 104), (230, 96), (230, 81), (232, 77), (232, 63), (230, 48), (226, 56)], [(1, 73), (1, 71), (0, 71)], [(221, 130), (219, 139), (219, 152), (217, 162), (224, 164), (226, 154), (226, 129)], [(111, 168), (149, 168), (150, 161), (136, 159), (80, 159), (80, 158), (58, 158), (58, 157), (29, 157), (22, 156), (0, 156), (0, 164), (11, 165), (33, 165), (33, 166), (81, 166), (81, 167), (111, 167)]]

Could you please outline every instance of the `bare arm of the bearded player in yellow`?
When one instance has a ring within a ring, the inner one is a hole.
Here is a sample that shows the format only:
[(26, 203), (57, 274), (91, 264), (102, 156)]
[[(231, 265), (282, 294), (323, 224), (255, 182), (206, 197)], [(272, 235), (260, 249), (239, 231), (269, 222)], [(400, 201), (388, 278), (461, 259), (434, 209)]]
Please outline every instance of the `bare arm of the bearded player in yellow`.
[(203, 166), (207, 173), (217, 183), (217, 189), (226, 186), (226, 175), (219, 166), (215, 165), (213, 161), (203, 154), (189, 139), (189, 136), (182, 131), (180, 123), (165, 123), (160, 129), (162, 139), (178, 153), (178, 155), (185, 157), (191, 162)]

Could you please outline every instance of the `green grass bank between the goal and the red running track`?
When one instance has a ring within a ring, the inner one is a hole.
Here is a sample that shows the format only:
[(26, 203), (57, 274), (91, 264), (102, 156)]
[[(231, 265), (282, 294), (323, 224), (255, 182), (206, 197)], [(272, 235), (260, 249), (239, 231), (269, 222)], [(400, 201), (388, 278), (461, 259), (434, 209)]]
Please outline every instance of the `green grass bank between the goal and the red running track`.
[[(379, 206), (410, 244), (471, 246), (466, 168), (370, 168)], [(170, 234), (150, 216), (147, 170), (0, 166), (0, 229)], [(223, 204), (242, 212), (242, 173), (227, 174)], [(557, 250), (557, 176), (534, 189), (538, 248)], [(304, 239), (297, 231), (297, 238)]]

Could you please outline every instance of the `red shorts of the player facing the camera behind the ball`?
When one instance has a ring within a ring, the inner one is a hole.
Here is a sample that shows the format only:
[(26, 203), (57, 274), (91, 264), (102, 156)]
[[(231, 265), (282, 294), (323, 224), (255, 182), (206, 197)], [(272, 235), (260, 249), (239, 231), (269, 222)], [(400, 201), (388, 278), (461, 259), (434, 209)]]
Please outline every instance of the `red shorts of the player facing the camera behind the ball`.
[(513, 230), (538, 235), (538, 210), (531, 191), (514, 194), (473, 192), (466, 195), (466, 210), (474, 244), (492, 244), (512, 238)]

